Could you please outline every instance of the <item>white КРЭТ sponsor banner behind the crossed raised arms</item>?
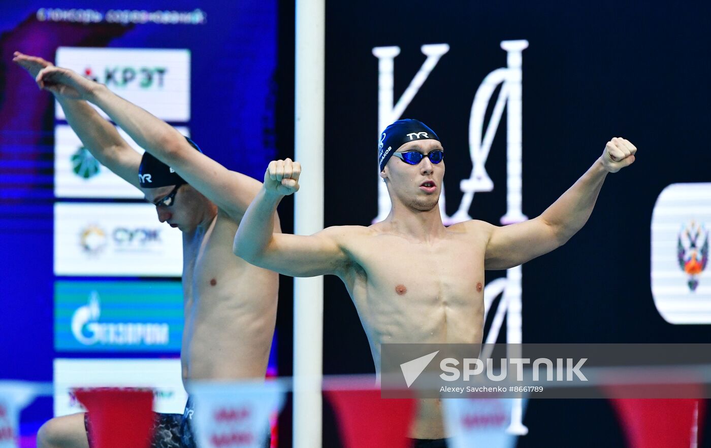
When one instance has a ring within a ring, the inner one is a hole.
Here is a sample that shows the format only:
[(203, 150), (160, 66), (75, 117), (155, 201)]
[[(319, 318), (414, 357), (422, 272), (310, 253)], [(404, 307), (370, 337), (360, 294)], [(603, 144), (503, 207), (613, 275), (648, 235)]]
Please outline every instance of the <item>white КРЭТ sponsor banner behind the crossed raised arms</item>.
[[(55, 58), (165, 121), (190, 121), (190, 51), (60, 47)], [(106, 116), (102, 111), (100, 113)], [(65, 119), (55, 105), (55, 116)]]

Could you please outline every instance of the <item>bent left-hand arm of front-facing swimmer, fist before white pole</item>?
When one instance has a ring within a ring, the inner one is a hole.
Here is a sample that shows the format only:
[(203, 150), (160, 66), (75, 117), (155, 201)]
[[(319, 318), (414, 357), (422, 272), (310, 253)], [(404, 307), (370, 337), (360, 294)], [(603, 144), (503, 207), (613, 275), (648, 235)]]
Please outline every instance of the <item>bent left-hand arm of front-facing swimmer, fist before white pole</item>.
[(286, 195), (299, 190), (301, 165), (292, 160), (269, 163), (262, 189), (250, 204), (235, 235), (235, 255), (261, 268), (292, 277), (340, 275), (348, 265), (341, 248), (341, 227), (330, 227), (311, 236), (274, 232), (272, 216)]

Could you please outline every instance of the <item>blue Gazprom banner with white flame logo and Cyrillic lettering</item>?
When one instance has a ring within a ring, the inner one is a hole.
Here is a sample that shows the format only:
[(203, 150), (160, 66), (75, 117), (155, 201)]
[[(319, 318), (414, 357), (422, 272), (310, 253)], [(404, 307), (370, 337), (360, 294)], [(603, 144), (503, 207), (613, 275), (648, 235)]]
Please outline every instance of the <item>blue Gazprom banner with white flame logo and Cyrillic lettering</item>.
[(54, 302), (57, 351), (180, 351), (178, 281), (57, 281)]

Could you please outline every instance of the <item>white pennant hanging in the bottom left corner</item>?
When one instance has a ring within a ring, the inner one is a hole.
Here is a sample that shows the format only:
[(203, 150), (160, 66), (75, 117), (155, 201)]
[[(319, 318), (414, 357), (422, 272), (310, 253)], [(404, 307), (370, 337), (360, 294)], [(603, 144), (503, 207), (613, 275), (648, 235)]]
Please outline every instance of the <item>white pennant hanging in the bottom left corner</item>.
[(0, 448), (18, 448), (20, 412), (34, 400), (35, 387), (20, 381), (0, 381)]

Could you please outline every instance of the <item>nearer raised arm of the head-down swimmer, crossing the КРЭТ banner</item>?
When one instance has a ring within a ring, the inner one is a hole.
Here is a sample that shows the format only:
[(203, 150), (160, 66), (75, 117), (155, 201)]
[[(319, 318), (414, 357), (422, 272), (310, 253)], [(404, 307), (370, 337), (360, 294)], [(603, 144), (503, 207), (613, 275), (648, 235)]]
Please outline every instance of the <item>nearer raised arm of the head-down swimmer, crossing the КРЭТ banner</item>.
[(176, 170), (208, 200), (237, 220), (260, 190), (258, 180), (230, 171), (196, 151), (173, 126), (117, 96), (103, 84), (59, 67), (43, 69), (37, 82), (55, 94), (86, 99), (99, 106), (139, 146)]

